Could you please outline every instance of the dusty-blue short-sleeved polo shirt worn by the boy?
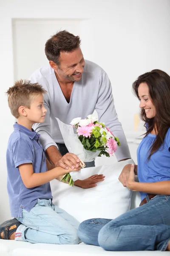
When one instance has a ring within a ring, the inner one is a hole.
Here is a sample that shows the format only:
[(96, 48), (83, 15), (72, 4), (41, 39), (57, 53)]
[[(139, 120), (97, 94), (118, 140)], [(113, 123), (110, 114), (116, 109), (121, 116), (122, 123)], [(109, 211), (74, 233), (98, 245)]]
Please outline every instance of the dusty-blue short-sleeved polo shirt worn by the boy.
[(50, 183), (27, 189), (24, 185), (18, 166), (32, 163), (35, 173), (46, 172), (45, 151), (39, 142), (40, 134), (30, 131), (23, 125), (14, 124), (14, 132), (8, 140), (6, 152), (7, 189), (12, 217), (22, 217), (22, 209), (28, 212), (34, 207), (37, 199), (51, 199)]

